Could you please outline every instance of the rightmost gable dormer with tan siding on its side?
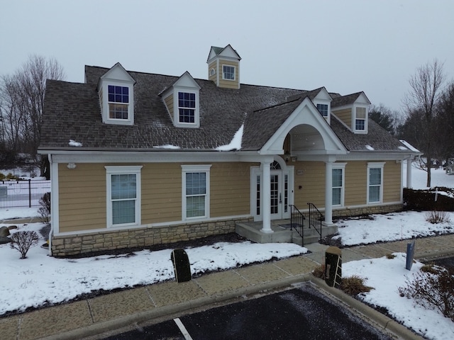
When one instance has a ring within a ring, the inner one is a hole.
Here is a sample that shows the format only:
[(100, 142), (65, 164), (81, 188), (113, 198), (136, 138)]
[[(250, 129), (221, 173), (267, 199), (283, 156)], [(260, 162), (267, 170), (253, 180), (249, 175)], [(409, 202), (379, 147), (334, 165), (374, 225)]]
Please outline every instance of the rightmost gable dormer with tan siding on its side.
[(352, 132), (366, 134), (370, 101), (364, 92), (338, 96), (331, 102), (331, 111)]

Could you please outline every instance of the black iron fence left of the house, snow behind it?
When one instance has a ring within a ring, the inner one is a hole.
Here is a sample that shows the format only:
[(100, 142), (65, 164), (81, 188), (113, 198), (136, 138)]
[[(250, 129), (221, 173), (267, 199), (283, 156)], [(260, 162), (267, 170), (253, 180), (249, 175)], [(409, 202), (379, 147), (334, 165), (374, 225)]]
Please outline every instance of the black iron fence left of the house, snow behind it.
[(50, 193), (50, 181), (0, 181), (0, 209), (37, 207), (45, 193)]

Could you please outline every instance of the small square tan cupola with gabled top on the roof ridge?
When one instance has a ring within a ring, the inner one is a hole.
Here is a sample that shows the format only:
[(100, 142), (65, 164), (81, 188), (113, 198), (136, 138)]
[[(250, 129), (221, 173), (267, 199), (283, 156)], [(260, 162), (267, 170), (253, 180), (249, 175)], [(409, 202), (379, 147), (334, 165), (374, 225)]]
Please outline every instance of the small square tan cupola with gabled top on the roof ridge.
[(240, 89), (240, 60), (241, 57), (231, 45), (212, 46), (206, 60), (208, 79), (218, 87)]

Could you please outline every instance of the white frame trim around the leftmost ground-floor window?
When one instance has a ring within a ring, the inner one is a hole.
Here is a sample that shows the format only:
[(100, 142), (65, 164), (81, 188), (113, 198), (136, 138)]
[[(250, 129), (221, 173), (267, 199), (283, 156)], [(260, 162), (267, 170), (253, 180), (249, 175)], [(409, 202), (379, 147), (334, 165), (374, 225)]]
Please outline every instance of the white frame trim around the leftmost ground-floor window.
[[(115, 227), (131, 227), (140, 225), (142, 210), (142, 182), (140, 180), (140, 169), (142, 169), (142, 166), (104, 166), (104, 168), (106, 169), (106, 227), (110, 229)], [(134, 222), (114, 225), (111, 208), (111, 176), (117, 174), (135, 174), (135, 217)]]

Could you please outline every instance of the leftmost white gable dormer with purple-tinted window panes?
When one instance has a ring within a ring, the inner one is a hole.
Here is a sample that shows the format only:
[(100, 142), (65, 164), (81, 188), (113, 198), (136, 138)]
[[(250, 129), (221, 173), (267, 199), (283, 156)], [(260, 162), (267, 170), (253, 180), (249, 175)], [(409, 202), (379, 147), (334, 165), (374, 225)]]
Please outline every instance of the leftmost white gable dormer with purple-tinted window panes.
[(135, 80), (117, 62), (98, 81), (102, 122), (105, 124), (134, 124)]

